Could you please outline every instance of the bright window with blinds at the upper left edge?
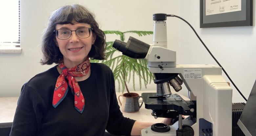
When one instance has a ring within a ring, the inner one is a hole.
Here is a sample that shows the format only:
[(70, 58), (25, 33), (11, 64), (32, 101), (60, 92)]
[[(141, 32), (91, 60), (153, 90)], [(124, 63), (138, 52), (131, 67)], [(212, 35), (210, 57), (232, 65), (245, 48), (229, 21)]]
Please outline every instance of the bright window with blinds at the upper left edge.
[(1, 0), (0, 18), (0, 46), (20, 47), (20, 0)]

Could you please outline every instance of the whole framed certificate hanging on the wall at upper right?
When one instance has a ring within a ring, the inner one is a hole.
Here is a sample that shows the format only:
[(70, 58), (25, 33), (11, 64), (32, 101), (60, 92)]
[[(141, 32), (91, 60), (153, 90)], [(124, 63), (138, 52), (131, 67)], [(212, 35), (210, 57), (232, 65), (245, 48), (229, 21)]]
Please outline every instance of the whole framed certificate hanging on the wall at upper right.
[(200, 0), (200, 28), (252, 26), (253, 0)]

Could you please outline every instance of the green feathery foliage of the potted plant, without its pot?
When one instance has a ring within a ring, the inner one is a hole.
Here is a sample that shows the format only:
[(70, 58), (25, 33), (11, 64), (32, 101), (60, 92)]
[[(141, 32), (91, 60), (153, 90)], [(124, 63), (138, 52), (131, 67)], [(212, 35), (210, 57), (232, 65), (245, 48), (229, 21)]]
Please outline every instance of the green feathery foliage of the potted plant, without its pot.
[[(139, 36), (151, 35), (153, 34), (152, 31), (112, 31), (106, 30), (104, 31), (105, 34), (116, 34), (119, 36), (119, 40), (125, 41), (126, 35), (128, 33), (137, 34)], [(133, 89), (135, 90), (135, 74), (139, 77), (139, 87), (141, 89), (141, 84), (143, 82), (144, 86), (148, 83), (151, 83), (152, 79), (154, 78), (153, 74), (149, 72), (147, 68), (147, 60), (146, 59), (133, 59), (129, 58), (125, 55), (119, 55), (117, 57), (114, 54), (118, 51), (113, 48), (113, 41), (106, 42), (106, 60), (102, 60), (101, 62), (109, 66), (114, 74), (115, 81), (118, 83), (118, 90), (125, 89), (125, 84), (130, 83), (130, 80), (133, 82)], [(98, 60), (92, 60), (92, 62), (99, 62)]]

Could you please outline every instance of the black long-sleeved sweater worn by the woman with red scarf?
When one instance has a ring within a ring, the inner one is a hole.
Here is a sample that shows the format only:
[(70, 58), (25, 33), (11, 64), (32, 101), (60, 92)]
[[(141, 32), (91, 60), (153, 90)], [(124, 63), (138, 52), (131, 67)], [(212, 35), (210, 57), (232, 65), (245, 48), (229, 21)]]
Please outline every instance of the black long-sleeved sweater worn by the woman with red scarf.
[(78, 82), (85, 98), (83, 113), (74, 107), (69, 89), (54, 108), (53, 91), (60, 74), (56, 66), (37, 74), (21, 89), (10, 136), (102, 136), (130, 135), (134, 120), (123, 117), (117, 103), (111, 69), (91, 63), (91, 75)]

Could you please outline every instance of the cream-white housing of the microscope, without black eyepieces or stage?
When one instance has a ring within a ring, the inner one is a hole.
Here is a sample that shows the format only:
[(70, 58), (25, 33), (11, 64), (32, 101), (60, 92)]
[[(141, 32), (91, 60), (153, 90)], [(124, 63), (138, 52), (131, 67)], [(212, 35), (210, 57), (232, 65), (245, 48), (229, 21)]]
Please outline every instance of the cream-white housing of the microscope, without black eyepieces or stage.
[[(196, 101), (195, 136), (204, 136), (200, 119), (211, 123), (213, 136), (232, 135), (232, 89), (222, 76), (222, 68), (214, 65), (176, 65), (176, 52), (167, 49), (165, 21), (155, 21), (153, 45), (146, 55), (152, 73), (178, 73)], [(208, 130), (209, 131), (209, 130)], [(142, 136), (145, 129), (141, 131)], [(156, 135), (161, 135), (156, 133)], [(167, 136), (167, 135), (166, 135)]]

